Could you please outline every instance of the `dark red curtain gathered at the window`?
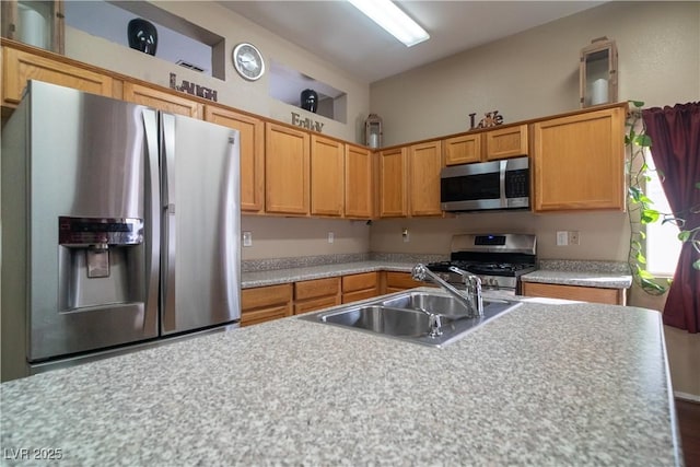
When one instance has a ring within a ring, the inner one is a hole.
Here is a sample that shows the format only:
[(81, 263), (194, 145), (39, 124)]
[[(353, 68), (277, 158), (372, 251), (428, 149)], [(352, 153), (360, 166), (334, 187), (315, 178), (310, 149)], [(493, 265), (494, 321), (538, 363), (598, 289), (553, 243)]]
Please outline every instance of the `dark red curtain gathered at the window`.
[[(652, 139), (654, 165), (665, 176), (664, 191), (670, 209), (686, 220), (684, 230), (700, 226), (700, 103), (676, 104), (642, 112)], [(664, 307), (664, 324), (688, 332), (700, 328), (700, 270), (692, 264), (700, 254), (682, 244), (674, 280)]]

